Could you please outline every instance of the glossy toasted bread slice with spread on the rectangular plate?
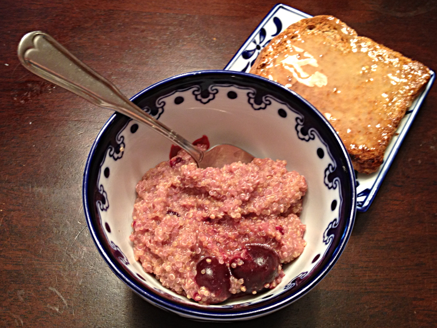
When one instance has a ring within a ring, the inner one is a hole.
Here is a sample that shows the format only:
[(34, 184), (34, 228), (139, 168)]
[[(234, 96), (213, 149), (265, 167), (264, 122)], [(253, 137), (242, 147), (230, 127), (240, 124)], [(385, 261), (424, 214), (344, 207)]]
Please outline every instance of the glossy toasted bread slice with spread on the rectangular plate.
[(358, 36), (332, 16), (290, 25), (261, 51), (250, 73), (313, 104), (363, 173), (382, 164), (401, 119), (430, 77), (422, 63)]

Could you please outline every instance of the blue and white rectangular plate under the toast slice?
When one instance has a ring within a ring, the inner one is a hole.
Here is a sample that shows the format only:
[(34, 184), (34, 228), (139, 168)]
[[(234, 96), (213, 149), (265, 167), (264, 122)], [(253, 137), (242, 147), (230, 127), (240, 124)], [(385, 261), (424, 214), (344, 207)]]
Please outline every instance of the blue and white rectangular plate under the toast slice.
[[(255, 62), (261, 49), (264, 48), (268, 42), (276, 35), (285, 30), (289, 25), (296, 23), (302, 18), (311, 17), (297, 9), (278, 4), (261, 21), (261, 24), (255, 31), (247, 38), (243, 46), (238, 50), (235, 56), (224, 68), (228, 71), (248, 72), (252, 64)], [(357, 210), (365, 212), (374, 200), (379, 187), (381, 186), (394, 157), (396, 156), (402, 141), (408, 132), (415, 116), (419, 112), (426, 95), (431, 89), (434, 82), (435, 73), (431, 71), (431, 78), (429, 79), (425, 89), (413, 101), (411, 107), (402, 119), (396, 134), (391, 139), (384, 155), (384, 163), (379, 170), (371, 174), (363, 174), (356, 172), (357, 178)]]

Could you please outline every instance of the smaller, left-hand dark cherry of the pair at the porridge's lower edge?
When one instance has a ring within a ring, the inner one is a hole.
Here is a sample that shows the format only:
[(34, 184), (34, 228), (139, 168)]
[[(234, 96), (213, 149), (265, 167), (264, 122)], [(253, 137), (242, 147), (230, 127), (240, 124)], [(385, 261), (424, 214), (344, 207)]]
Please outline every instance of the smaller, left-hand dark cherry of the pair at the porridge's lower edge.
[(204, 257), (196, 266), (196, 283), (215, 294), (215, 302), (220, 303), (231, 296), (231, 272), (215, 257)]

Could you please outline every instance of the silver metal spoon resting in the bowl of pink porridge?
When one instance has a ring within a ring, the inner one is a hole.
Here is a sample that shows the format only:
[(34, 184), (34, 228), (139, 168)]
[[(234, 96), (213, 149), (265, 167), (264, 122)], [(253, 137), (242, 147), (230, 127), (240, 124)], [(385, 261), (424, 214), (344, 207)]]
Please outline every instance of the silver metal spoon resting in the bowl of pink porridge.
[(123, 96), (114, 84), (94, 72), (46, 33), (35, 31), (23, 36), (18, 45), (18, 58), (25, 68), (43, 79), (97, 106), (110, 108), (147, 124), (188, 152), (198, 167), (223, 167), (238, 161), (249, 163), (254, 159), (243, 149), (227, 144), (214, 146), (204, 152), (199, 150), (174, 130), (142, 111)]

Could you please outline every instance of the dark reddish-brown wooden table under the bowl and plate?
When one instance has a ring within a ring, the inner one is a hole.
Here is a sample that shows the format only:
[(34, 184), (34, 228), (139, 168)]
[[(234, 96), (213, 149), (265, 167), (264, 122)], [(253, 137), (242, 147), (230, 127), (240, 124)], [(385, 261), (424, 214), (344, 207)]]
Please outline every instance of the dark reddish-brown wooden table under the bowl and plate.
[[(277, 0), (0, 2), (0, 326), (203, 327), (137, 297), (89, 234), (82, 172), (111, 116), (25, 70), (19, 39), (44, 30), (132, 96), (183, 72), (222, 69)], [(432, 0), (296, 0), (437, 69)], [(376, 200), (309, 294), (242, 327), (434, 327), (437, 87)], [(208, 324), (218, 326), (218, 324)], [(228, 324), (228, 327), (236, 324)]]

